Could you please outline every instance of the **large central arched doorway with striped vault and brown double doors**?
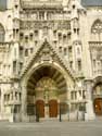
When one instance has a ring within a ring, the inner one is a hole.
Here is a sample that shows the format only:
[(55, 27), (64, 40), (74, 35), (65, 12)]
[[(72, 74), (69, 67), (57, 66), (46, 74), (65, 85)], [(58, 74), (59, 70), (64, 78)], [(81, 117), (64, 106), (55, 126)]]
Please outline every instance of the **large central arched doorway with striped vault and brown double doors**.
[(35, 111), (34, 115), (37, 113), (39, 118), (58, 118), (59, 102), (65, 103), (66, 92), (66, 81), (62, 73), (54, 67), (42, 66), (28, 79), (27, 109), (35, 109), (29, 112)]

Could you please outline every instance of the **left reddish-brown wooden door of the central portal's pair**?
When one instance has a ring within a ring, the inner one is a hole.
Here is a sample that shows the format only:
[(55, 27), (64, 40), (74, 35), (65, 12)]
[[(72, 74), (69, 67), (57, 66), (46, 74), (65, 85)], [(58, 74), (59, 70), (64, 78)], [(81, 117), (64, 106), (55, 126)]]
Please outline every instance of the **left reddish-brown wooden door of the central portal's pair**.
[(36, 101), (36, 114), (38, 114), (39, 118), (44, 118), (44, 101), (43, 100)]

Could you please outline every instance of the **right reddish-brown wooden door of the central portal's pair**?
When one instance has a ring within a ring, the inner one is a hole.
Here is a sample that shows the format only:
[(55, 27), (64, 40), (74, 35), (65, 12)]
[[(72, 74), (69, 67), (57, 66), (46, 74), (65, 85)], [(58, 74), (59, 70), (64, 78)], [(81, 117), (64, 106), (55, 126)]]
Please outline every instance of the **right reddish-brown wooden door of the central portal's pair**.
[(56, 100), (49, 101), (49, 116), (58, 118), (58, 101)]

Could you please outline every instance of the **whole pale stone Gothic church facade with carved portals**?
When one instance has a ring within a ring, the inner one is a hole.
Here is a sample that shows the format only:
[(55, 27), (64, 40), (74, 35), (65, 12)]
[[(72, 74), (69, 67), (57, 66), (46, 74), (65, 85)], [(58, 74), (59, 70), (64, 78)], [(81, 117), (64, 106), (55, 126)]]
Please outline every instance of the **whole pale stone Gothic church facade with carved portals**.
[[(90, 1), (90, 2), (89, 2)], [(0, 10), (0, 120), (102, 116), (102, 3), (7, 0)]]

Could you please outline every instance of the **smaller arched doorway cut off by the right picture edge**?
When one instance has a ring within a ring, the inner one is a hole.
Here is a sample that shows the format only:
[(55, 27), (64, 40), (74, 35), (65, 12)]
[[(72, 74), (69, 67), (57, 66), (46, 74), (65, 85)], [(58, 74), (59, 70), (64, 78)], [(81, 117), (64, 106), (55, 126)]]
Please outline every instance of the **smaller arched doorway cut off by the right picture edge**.
[(102, 83), (98, 83), (93, 88), (93, 109), (95, 115), (102, 115)]

